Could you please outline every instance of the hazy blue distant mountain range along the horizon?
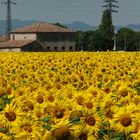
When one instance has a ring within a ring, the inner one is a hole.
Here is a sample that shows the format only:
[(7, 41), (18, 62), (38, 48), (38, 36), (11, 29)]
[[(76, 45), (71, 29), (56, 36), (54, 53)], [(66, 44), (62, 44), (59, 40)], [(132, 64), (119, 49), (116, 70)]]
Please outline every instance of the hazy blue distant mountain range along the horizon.
[[(26, 25), (31, 25), (33, 23), (37, 23), (40, 21), (36, 21), (36, 20), (19, 20), (19, 19), (13, 19), (12, 20), (12, 25), (13, 25), (13, 29), (16, 28), (20, 28)], [(60, 23), (63, 24), (63, 23)], [(67, 26), (70, 29), (73, 29), (75, 31), (81, 30), (81, 31), (87, 31), (87, 30), (96, 30), (98, 29), (98, 26), (93, 26), (93, 25), (89, 25), (87, 23), (81, 22), (81, 21), (75, 21), (72, 23), (68, 23), (68, 24), (63, 24), (64, 26)], [(140, 31), (140, 24), (129, 24), (127, 26), (115, 26), (116, 30), (119, 30), (120, 28), (130, 28), (134, 31)], [(5, 28), (6, 28), (6, 21), (5, 20), (0, 20), (0, 35), (4, 35), (5, 34)]]

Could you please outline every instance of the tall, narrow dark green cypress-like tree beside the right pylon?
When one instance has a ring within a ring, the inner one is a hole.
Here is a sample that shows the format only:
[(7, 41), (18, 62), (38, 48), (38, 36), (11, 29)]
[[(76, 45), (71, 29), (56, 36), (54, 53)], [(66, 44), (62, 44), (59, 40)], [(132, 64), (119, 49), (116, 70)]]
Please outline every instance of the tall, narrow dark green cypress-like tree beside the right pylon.
[(101, 49), (103, 51), (112, 50), (114, 46), (114, 26), (112, 25), (112, 16), (109, 9), (103, 12), (99, 32), (104, 40)]

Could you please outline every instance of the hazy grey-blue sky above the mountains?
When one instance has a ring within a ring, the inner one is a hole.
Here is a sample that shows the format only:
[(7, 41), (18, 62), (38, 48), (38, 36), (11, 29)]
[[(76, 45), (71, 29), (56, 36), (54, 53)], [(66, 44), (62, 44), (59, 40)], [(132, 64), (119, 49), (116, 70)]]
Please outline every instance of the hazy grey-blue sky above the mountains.
[[(4, 2), (7, 0), (0, 0)], [(12, 18), (71, 23), (83, 21), (98, 25), (104, 0), (12, 0)], [(118, 13), (113, 14), (114, 25), (140, 23), (140, 0), (118, 0)], [(6, 5), (0, 4), (0, 19), (6, 17)]]

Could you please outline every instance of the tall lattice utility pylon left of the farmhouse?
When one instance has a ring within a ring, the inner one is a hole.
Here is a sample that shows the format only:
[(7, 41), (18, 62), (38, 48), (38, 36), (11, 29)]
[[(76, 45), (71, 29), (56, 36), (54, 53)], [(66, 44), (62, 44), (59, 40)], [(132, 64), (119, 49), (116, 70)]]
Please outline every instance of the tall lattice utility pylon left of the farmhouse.
[(10, 32), (12, 30), (12, 21), (11, 21), (11, 4), (16, 4), (15, 2), (12, 2), (11, 0), (7, 0), (6, 2), (3, 2), (2, 4), (7, 5), (7, 15), (6, 15), (6, 39), (10, 39)]

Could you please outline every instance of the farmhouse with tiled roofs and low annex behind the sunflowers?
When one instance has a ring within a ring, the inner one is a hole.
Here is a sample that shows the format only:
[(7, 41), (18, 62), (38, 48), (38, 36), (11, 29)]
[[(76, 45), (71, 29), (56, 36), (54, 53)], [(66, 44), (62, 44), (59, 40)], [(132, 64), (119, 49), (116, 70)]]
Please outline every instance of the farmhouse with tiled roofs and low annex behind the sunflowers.
[(46, 22), (13, 30), (1, 51), (75, 51), (75, 32)]

